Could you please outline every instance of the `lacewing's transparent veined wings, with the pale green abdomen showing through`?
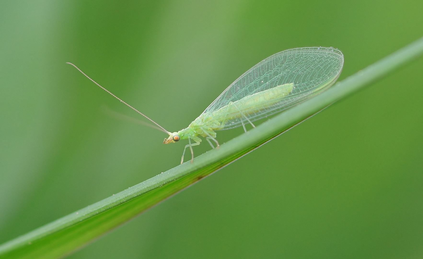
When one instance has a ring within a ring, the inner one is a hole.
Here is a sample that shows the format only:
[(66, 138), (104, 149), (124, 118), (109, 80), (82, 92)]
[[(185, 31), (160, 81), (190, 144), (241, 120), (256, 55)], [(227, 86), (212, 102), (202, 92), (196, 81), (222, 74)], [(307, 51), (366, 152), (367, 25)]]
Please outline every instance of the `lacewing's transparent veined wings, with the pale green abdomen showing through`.
[(342, 52), (334, 48), (305, 47), (279, 52), (242, 74), (201, 117), (220, 121), (220, 129), (264, 118), (328, 88), (341, 74), (342, 66)]

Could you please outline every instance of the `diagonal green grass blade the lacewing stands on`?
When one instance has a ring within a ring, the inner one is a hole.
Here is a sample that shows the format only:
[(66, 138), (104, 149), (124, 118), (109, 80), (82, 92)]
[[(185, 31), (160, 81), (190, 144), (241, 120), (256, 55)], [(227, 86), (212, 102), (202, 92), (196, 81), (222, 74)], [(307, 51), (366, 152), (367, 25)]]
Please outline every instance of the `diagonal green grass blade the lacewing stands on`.
[(58, 258), (198, 182), (277, 137), (337, 100), (392, 72), (423, 52), (423, 38), (394, 52), (327, 91), (302, 102), (255, 129), (109, 198), (80, 209), (0, 246), (1, 258)]

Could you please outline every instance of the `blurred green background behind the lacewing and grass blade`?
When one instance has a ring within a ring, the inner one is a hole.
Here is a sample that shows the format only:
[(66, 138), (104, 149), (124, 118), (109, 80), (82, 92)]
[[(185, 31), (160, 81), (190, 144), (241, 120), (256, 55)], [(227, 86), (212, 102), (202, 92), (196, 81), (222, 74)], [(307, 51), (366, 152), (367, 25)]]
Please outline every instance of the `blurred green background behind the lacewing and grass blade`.
[[(421, 0), (1, 1), (0, 243), (179, 164), (184, 144), (105, 114), (140, 117), (66, 61), (177, 131), (282, 50), (337, 47), (342, 80), (423, 36), (422, 10)], [(421, 258), (422, 70), (420, 58), (69, 258)]]

